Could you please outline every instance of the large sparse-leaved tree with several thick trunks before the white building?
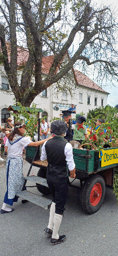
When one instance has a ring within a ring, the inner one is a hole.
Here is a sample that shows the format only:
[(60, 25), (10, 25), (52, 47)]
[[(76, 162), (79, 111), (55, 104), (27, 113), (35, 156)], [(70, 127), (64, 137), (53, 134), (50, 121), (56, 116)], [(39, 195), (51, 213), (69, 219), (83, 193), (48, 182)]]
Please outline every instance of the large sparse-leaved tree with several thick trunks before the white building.
[[(110, 7), (92, 6), (90, 0), (2, 0), (0, 10), (0, 58), (16, 101), (22, 105), (30, 106), (40, 92), (59, 82), (76, 63), (85, 70), (94, 64), (102, 78), (117, 79), (117, 24)], [(20, 86), (18, 44), (26, 44), (29, 54), (22, 66)], [(54, 54), (54, 59), (42, 80), (44, 51)], [(67, 52), (69, 61), (62, 64)], [(32, 75), (35, 85), (30, 87)]]

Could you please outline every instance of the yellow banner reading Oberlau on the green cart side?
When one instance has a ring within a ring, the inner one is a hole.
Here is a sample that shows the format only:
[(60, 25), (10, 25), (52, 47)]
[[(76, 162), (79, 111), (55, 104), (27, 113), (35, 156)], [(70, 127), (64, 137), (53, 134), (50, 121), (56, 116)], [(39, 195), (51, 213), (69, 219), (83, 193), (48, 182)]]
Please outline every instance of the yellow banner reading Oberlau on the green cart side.
[(118, 163), (118, 148), (102, 150), (102, 154), (101, 167)]

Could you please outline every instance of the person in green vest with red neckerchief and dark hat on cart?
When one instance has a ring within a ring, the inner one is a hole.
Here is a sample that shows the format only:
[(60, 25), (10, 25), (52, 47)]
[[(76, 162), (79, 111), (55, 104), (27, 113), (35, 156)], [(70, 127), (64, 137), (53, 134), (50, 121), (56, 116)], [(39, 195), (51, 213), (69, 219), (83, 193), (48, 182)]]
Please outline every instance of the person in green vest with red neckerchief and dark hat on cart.
[(74, 130), (73, 140), (79, 141), (80, 144), (89, 137), (87, 127), (83, 125), (83, 122), (86, 122), (86, 118), (79, 115), (76, 118), (76, 124), (72, 124), (72, 129)]

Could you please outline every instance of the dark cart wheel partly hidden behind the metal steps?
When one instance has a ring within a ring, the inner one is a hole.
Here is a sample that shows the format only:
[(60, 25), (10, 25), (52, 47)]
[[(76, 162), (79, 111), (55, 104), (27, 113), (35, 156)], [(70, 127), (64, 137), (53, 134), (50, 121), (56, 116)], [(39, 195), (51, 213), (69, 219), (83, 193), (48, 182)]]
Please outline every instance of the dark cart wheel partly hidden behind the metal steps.
[[(37, 173), (37, 176), (46, 179), (46, 170), (47, 170), (46, 168), (41, 167), (39, 169), (38, 173)], [(40, 184), (36, 183), (36, 188), (43, 195), (50, 195), (51, 194), (50, 189), (48, 187), (45, 187), (43, 185), (40, 185)]]

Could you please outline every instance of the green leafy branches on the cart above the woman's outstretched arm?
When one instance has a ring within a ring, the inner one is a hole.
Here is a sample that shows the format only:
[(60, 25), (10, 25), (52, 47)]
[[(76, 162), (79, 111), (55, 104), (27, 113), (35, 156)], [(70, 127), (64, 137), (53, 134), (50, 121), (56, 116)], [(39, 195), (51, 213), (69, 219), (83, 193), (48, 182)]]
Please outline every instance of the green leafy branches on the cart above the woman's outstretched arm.
[[(20, 106), (20, 110), (18, 110), (17, 114), (14, 114), (14, 117), (16, 118), (15, 122), (21, 121), (20, 116), (24, 117), (24, 123), (26, 124), (26, 135), (29, 135), (31, 138), (33, 138), (34, 134), (33, 132), (37, 133), (37, 122), (38, 122), (38, 111), (39, 109), (36, 108), (36, 104), (33, 103), (32, 108), (28, 108), (26, 111), (26, 108), (21, 105), (21, 103), (17, 102), (17, 106)], [(45, 119), (46, 117), (42, 117), (42, 119)]]

